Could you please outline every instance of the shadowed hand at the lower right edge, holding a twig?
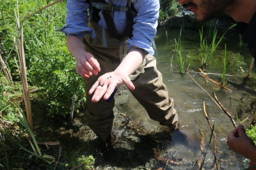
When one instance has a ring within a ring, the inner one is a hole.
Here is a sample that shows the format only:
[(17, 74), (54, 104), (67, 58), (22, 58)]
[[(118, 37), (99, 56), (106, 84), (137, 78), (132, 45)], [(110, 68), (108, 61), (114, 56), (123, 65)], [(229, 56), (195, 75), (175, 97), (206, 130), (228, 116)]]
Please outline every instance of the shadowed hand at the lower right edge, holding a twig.
[(246, 135), (243, 125), (239, 125), (229, 133), (227, 144), (237, 154), (250, 159), (250, 167), (256, 165), (256, 146), (253, 140)]

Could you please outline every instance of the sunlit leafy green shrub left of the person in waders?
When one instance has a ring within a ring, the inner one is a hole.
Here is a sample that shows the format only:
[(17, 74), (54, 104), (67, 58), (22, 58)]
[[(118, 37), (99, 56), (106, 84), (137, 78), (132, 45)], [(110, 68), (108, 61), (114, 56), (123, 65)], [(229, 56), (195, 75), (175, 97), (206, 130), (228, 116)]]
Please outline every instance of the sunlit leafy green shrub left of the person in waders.
[[(20, 21), (42, 6), (46, 6), (45, 1), (19, 2)], [(0, 22), (2, 45), (0, 48), (4, 52), (3, 56), (6, 57), (14, 44), (13, 37), (17, 37), (13, 12), (14, 8), (17, 11), (17, 2), (16, 0), (5, 3), (2, 1), (1, 8), (3, 22)], [(49, 116), (70, 114), (73, 95), (76, 95), (75, 109), (85, 104), (82, 77), (76, 73), (75, 60), (68, 52), (65, 35), (57, 31), (65, 25), (65, 18), (66, 2), (61, 2), (33, 15), (24, 22), (23, 45), (28, 81), (40, 89), (38, 97), (41, 103), (46, 105)], [(11, 56), (17, 57), (17, 52), (13, 52)], [(13, 58), (10, 58), (7, 64), (12, 73), (17, 70)]]

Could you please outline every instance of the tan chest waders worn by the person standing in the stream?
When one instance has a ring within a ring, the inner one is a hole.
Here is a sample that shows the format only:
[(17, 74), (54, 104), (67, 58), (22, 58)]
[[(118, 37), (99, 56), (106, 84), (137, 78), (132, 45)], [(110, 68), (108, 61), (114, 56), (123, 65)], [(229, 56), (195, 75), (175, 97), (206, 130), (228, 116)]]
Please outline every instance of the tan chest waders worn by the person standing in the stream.
[[(114, 120), (115, 100), (113, 98), (109, 103), (102, 97), (97, 103), (92, 103), (93, 95), (89, 95), (88, 91), (101, 75), (114, 71), (120, 64), (119, 47), (127, 38), (119, 40), (110, 38), (106, 31), (108, 47), (104, 48), (100, 25), (91, 20), (87, 27), (93, 28), (97, 36), (95, 38), (91, 38), (90, 35), (84, 37), (85, 50), (98, 60), (101, 71), (97, 76), (92, 75), (89, 79), (84, 78), (88, 107), (85, 116), (94, 133), (106, 141), (111, 133)], [(161, 125), (175, 129), (178, 126), (178, 114), (173, 107), (174, 101), (169, 98), (166, 86), (162, 81), (162, 74), (156, 69), (155, 57), (148, 54), (146, 58), (148, 58), (148, 64), (144, 68), (145, 73), (140, 74), (139, 79), (133, 82), (135, 90), (131, 93), (146, 109), (151, 119), (158, 121)]]

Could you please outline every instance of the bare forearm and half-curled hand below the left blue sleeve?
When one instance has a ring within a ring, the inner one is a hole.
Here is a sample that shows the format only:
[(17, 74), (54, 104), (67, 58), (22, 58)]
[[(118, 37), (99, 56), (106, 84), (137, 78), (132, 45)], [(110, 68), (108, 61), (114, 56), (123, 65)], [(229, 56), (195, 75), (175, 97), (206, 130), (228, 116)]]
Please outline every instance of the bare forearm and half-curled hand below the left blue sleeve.
[(85, 78), (90, 78), (92, 74), (97, 75), (100, 71), (100, 64), (92, 54), (84, 50), (83, 38), (68, 35), (68, 50), (76, 60), (76, 71)]

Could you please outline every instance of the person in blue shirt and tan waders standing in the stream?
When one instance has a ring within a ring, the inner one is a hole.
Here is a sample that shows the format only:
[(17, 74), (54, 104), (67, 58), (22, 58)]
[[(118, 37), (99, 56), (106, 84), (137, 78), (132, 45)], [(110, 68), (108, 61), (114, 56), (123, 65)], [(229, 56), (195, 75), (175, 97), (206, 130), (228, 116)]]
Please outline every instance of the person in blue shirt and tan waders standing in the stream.
[(86, 120), (106, 147), (114, 120), (111, 94), (123, 83), (151, 119), (179, 130), (174, 101), (153, 56), (158, 15), (158, 0), (67, 1), (66, 25), (59, 31), (84, 80)]

